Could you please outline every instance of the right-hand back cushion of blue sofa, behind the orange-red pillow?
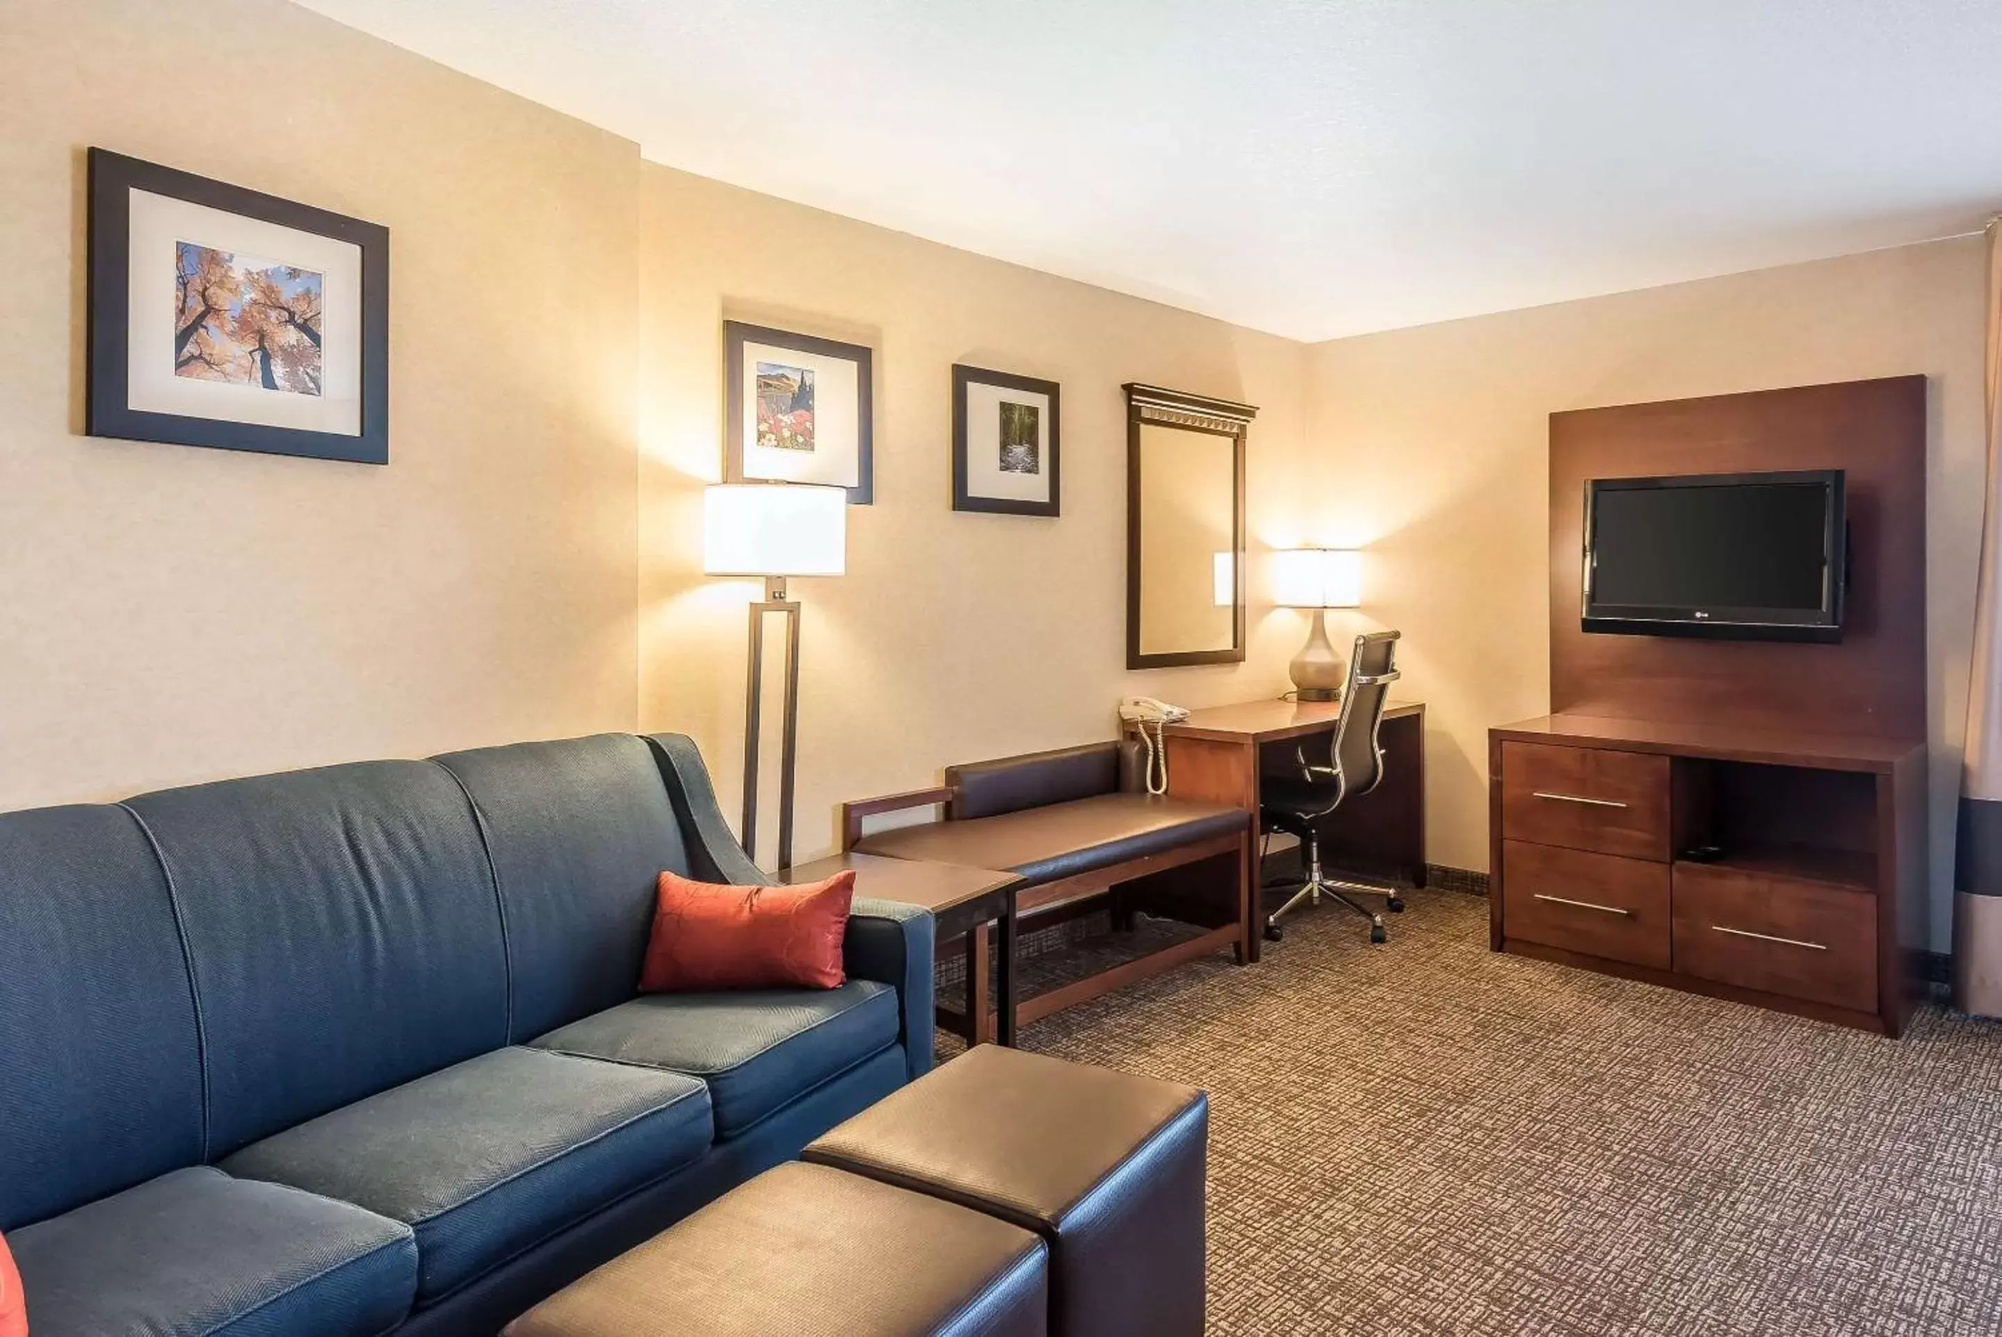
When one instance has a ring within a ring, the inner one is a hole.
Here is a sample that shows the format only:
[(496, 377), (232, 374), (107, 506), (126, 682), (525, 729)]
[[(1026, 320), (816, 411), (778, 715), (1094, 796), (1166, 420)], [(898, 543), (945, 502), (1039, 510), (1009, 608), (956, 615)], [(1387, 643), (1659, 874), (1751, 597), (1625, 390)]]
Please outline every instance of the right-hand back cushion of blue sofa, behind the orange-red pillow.
[(689, 875), (645, 739), (599, 735), (436, 759), (472, 797), (507, 917), (513, 1043), (635, 995), (661, 873)]

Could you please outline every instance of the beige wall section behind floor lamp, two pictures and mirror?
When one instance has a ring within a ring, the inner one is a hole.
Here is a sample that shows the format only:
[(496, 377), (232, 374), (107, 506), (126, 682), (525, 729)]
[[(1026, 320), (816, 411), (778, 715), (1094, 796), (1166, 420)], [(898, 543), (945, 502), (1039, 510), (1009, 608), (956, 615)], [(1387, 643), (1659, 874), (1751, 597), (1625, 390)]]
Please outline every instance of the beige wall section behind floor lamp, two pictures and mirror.
[[(1123, 668), (1119, 386), (1259, 406), (1249, 528), (1269, 542), (1297, 528), (1301, 344), (645, 166), (641, 717), (697, 737), (731, 813), (755, 586), (699, 574), (725, 318), (877, 350), (875, 504), (849, 510), (845, 576), (793, 582), (801, 857), (835, 845), (841, 799), (933, 783), (955, 761), (1109, 739), (1123, 695), (1209, 705), (1285, 687), (1305, 622), (1259, 608), (1247, 664)], [(1063, 384), (1061, 518), (951, 508), (953, 362)]]

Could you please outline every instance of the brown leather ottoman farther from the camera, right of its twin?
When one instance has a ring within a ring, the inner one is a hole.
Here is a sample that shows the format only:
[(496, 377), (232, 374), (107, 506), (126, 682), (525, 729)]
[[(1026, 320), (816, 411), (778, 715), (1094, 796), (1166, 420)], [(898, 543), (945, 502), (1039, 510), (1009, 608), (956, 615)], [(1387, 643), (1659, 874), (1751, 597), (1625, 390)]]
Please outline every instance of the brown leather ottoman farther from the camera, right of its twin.
[(1201, 1337), (1209, 1101), (981, 1045), (803, 1153), (1049, 1243), (1057, 1337)]

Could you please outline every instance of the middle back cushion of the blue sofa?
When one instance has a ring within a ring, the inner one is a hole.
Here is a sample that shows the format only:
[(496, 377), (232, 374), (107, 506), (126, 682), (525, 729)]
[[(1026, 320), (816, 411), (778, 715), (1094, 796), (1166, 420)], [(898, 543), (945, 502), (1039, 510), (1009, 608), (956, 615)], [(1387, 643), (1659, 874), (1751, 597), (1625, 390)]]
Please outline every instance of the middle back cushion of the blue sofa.
[(507, 1043), (492, 871), (444, 769), (374, 761), (128, 807), (188, 943), (204, 1159)]

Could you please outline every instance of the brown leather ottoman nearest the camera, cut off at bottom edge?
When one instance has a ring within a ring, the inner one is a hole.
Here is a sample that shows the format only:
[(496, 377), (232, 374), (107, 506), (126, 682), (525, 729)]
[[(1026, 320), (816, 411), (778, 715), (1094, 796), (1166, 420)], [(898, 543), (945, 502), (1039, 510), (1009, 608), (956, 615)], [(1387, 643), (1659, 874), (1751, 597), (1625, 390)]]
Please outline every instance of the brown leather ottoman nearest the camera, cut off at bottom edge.
[(549, 1297), (503, 1337), (1043, 1337), (1033, 1233), (781, 1165)]

